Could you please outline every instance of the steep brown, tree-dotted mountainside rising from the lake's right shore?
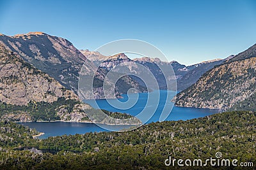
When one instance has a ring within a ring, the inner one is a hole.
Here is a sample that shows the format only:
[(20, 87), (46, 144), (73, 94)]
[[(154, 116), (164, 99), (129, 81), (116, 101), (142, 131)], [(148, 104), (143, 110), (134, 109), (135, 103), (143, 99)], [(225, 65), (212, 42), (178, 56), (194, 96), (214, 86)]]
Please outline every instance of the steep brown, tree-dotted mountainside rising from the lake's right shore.
[(256, 45), (228, 57), (207, 71), (194, 85), (177, 94), (176, 105), (256, 110)]

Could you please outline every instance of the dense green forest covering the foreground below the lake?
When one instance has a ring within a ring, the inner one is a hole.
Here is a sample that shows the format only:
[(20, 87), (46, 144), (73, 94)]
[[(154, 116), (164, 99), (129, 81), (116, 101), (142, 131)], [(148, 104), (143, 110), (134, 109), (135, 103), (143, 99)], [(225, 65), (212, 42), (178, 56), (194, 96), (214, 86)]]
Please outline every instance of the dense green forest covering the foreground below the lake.
[[(205, 160), (216, 152), (221, 152), (223, 159), (256, 160), (256, 113), (252, 111), (156, 122), (128, 132), (90, 132), (42, 140), (33, 139), (34, 134), (28, 127), (1, 122), (2, 169), (177, 169), (165, 166), (164, 160), (169, 156)], [(20, 146), (35, 149), (17, 150)]]

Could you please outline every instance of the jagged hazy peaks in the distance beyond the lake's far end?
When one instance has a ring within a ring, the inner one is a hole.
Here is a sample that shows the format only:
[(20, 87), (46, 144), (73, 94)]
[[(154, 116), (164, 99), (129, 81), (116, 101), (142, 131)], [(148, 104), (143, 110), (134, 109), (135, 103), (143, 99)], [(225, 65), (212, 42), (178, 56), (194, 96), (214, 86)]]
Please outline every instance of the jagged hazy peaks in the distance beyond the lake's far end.
[[(118, 64), (125, 63), (126, 67), (122, 67), (123, 71), (128, 69), (132, 73), (138, 74), (138, 67), (135, 67), (132, 62), (141, 64), (147, 67), (152, 74), (154, 74), (157, 82), (159, 83), (160, 89), (166, 89), (166, 81), (163, 74), (161, 74), (161, 69), (157, 65), (169, 68), (172, 67), (175, 75), (169, 77), (168, 79), (177, 80), (177, 90), (184, 90), (195, 83), (206, 71), (225, 61), (223, 59), (215, 59), (191, 66), (185, 66), (183, 64), (179, 64), (177, 61), (163, 62), (158, 58), (141, 57), (129, 59), (129, 57), (127, 57), (124, 53), (119, 53), (113, 56), (104, 56), (99, 52), (90, 52), (88, 50), (81, 50), (81, 52), (88, 56), (88, 59), (92, 60), (97, 66), (105, 69), (106, 71), (113, 69), (114, 67), (118, 66)], [(115, 71), (120, 70), (115, 69)], [(138, 78), (136, 79), (134, 76), (132, 76), (132, 78), (142, 83)]]

